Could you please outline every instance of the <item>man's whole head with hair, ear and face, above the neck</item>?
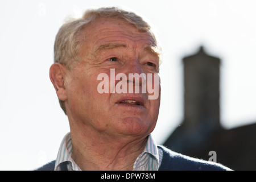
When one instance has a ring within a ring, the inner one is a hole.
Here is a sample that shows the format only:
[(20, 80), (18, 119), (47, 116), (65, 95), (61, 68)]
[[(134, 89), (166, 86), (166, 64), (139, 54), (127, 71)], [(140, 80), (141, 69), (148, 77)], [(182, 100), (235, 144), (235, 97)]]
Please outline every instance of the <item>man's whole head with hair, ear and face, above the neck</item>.
[[(50, 77), (69, 121), (98, 132), (151, 133), (160, 97), (148, 100), (148, 92), (98, 93), (97, 77), (101, 73), (111, 77), (110, 69), (127, 77), (129, 73), (158, 74), (159, 55), (151, 27), (134, 13), (102, 8), (65, 23), (56, 36)], [(114, 85), (118, 82), (115, 79)], [(111, 89), (113, 81), (108, 83)], [(127, 80), (130, 84), (134, 80)], [(160, 85), (156, 87), (160, 91)]]

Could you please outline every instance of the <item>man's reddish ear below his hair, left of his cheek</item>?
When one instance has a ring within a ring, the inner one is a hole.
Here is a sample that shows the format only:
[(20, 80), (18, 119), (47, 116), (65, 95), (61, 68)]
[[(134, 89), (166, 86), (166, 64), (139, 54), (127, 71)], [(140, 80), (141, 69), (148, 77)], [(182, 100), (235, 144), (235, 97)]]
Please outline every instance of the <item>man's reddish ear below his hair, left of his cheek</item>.
[(64, 78), (67, 73), (67, 68), (60, 63), (52, 64), (49, 70), (49, 77), (56, 90), (59, 100), (65, 101), (68, 99), (67, 92), (65, 89)]

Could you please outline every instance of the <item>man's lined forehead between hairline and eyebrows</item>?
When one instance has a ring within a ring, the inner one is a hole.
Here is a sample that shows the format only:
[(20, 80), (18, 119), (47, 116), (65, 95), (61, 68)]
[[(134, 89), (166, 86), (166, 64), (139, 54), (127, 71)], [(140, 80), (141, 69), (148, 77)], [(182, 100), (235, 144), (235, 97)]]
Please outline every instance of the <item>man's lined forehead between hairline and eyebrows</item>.
[[(127, 47), (155, 47), (150, 32), (142, 32), (132, 24), (119, 19), (98, 18), (84, 30), (87, 48), (97, 49), (105, 44), (125, 44)], [(92, 50), (91, 50), (92, 51)]]

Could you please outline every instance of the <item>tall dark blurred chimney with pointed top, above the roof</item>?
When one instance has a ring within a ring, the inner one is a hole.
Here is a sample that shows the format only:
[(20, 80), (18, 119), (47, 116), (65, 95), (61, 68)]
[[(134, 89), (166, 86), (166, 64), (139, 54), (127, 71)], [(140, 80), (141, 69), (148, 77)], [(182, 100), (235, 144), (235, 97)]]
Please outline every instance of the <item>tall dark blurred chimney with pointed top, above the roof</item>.
[(207, 55), (203, 46), (184, 57), (184, 128), (220, 128), (220, 59)]

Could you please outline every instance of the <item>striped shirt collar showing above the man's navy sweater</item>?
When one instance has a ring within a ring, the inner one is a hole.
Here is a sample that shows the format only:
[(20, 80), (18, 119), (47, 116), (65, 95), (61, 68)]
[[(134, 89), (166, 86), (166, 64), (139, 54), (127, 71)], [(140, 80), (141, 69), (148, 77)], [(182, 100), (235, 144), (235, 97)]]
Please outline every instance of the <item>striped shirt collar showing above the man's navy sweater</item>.
[[(65, 165), (68, 171), (81, 171), (79, 166), (72, 159), (72, 139), (71, 134), (68, 133), (63, 138), (59, 152), (57, 154), (55, 171), (61, 171), (61, 167)], [(135, 160), (134, 171), (157, 171), (163, 159), (163, 151), (156, 146), (152, 136), (148, 136), (146, 146), (143, 152)]]

